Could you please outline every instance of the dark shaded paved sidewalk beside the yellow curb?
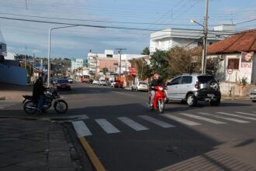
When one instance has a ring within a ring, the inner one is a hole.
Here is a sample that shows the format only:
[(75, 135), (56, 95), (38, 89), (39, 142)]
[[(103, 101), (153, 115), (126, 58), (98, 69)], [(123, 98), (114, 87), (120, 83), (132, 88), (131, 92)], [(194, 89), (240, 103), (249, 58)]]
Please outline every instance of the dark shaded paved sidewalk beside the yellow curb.
[(72, 159), (62, 125), (48, 121), (0, 119), (0, 170), (83, 170)]

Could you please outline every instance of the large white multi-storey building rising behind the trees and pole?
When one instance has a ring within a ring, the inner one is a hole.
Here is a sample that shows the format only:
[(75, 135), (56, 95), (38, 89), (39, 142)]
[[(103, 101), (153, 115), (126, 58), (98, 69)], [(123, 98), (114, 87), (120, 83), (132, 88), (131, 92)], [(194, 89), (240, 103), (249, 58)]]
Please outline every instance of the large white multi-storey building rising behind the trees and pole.
[[(207, 36), (207, 44), (211, 45), (230, 34), (234, 33), (234, 25), (215, 26), (213, 30), (209, 30)], [(202, 29), (162, 29), (150, 34), (150, 54), (157, 50), (170, 50), (175, 46), (184, 46), (185, 48), (193, 48), (202, 46), (202, 38), (204, 34)]]

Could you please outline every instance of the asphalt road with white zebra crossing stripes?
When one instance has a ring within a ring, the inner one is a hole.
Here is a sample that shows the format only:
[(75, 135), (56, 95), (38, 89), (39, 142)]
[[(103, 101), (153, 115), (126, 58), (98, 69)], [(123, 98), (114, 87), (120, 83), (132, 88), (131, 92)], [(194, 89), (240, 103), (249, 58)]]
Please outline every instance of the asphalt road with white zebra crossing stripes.
[[(60, 94), (67, 114), (51, 109), (32, 117), (82, 120), (85, 139), (107, 170), (256, 170), (251, 101), (221, 101), (218, 107), (202, 102), (194, 108), (171, 102), (161, 115), (149, 111), (147, 92), (72, 84), (72, 91)], [(0, 115), (27, 116), (21, 103), (5, 104)]]

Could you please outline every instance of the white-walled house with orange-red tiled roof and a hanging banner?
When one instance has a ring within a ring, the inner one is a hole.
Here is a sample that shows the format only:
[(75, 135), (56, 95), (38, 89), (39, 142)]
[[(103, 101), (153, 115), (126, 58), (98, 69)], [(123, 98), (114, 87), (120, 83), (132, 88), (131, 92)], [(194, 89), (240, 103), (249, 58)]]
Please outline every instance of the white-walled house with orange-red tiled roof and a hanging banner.
[(256, 29), (247, 30), (214, 43), (207, 58), (218, 59), (219, 80), (256, 84)]

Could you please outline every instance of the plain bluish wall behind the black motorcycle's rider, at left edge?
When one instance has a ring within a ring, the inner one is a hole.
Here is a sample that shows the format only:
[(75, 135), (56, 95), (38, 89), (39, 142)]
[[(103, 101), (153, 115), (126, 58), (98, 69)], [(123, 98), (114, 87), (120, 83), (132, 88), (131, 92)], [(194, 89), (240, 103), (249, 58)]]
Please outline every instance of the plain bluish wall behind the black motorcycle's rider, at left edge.
[(21, 67), (6, 66), (0, 63), (0, 82), (26, 85), (26, 69)]

